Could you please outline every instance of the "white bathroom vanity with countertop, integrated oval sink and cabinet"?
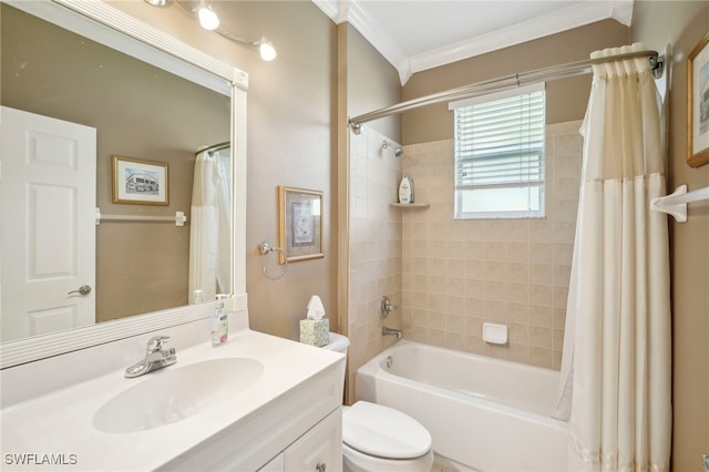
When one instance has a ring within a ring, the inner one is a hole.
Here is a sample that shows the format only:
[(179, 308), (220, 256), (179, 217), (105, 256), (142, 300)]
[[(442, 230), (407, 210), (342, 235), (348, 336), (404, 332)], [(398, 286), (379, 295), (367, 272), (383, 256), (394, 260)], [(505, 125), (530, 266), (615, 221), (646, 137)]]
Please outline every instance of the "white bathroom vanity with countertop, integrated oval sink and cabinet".
[[(205, 319), (3, 369), (2, 470), (341, 470), (345, 356), (229, 322), (217, 348)], [(126, 379), (155, 335), (177, 362)]]

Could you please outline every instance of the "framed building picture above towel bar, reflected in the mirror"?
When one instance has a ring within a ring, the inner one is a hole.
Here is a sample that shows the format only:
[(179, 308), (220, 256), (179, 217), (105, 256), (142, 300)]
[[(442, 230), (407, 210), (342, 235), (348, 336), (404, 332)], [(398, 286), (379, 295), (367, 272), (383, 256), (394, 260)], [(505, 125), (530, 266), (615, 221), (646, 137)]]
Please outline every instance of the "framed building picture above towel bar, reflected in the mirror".
[(167, 164), (113, 156), (113, 203), (168, 205)]

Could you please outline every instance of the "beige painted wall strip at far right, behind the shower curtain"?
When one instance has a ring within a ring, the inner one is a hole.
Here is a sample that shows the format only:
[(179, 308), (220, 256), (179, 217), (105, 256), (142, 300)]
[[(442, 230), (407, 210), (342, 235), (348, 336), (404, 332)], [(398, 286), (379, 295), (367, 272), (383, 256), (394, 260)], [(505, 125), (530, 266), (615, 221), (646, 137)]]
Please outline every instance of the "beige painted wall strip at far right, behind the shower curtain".
[[(709, 185), (709, 165), (686, 163), (687, 54), (709, 31), (709, 4), (695, 1), (635, 3), (633, 40), (665, 50), (669, 61), (669, 185)], [(687, 223), (670, 218), (672, 298), (672, 470), (701, 470), (709, 453), (709, 206), (689, 204)]]

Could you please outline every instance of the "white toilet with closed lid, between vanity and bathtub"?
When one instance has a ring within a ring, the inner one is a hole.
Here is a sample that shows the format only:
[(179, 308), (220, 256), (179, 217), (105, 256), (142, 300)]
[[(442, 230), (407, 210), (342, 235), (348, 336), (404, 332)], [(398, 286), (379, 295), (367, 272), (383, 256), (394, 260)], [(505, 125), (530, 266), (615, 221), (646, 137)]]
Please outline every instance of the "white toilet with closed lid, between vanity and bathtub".
[[(323, 346), (347, 355), (347, 337), (330, 332)], [(382, 404), (357, 401), (342, 410), (345, 471), (429, 472), (433, 465), (431, 433), (410, 415)]]

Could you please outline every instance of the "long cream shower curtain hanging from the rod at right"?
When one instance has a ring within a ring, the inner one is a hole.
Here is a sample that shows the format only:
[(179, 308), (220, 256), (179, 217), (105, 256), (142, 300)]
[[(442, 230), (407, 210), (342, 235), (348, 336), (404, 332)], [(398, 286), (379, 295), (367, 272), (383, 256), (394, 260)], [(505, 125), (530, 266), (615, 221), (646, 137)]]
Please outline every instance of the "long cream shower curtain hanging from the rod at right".
[(594, 65), (555, 414), (574, 471), (669, 470), (668, 228), (649, 209), (665, 195), (659, 109), (646, 58)]

